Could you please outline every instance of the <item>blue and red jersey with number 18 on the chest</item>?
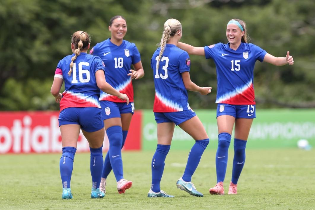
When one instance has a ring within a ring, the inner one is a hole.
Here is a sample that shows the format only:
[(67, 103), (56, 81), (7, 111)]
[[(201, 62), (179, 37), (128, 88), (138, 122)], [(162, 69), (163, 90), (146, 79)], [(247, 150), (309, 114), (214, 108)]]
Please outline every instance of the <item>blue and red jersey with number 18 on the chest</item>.
[[(134, 43), (123, 40), (119, 46), (109, 39), (97, 43), (90, 54), (98, 55), (106, 66), (106, 82), (112, 85), (120, 93), (127, 94), (129, 101), (134, 101), (134, 90), (131, 82), (131, 65), (140, 61), (140, 53)], [(122, 102), (117, 96), (106, 94), (101, 91), (100, 100)]]

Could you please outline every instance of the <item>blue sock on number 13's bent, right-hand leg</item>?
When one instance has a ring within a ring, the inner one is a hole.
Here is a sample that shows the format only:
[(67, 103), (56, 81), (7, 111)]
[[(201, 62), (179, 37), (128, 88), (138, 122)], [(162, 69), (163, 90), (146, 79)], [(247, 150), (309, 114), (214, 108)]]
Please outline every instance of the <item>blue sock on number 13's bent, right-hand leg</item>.
[(182, 179), (185, 182), (192, 181), (192, 174), (194, 174), (200, 162), (203, 151), (206, 149), (208, 144), (209, 144), (209, 139), (203, 139), (203, 140), (196, 140), (196, 143), (192, 146), (192, 149), (190, 150), (188, 154), (188, 160), (187, 160), (185, 172), (182, 176)]

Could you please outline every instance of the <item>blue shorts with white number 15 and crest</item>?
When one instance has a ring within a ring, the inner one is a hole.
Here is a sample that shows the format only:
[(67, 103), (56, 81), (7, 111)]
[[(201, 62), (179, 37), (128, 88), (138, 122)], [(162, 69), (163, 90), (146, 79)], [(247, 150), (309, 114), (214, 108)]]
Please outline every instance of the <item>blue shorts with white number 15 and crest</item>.
[(256, 105), (218, 104), (217, 117), (230, 115), (235, 118), (256, 118)]

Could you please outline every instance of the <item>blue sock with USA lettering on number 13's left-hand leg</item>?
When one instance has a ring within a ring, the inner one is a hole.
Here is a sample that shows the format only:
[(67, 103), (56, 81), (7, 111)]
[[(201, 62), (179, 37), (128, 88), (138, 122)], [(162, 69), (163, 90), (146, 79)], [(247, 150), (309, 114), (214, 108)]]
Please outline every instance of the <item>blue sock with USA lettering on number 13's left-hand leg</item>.
[(152, 157), (151, 169), (152, 169), (152, 183), (151, 190), (153, 192), (160, 192), (160, 182), (163, 175), (165, 158), (171, 145), (157, 145), (157, 149)]

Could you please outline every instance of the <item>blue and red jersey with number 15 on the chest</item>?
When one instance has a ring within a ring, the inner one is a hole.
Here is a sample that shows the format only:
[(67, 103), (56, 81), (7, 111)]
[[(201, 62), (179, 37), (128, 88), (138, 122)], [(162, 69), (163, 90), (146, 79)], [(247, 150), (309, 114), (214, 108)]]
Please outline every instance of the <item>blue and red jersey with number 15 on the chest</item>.
[(262, 62), (266, 51), (251, 43), (241, 43), (237, 50), (229, 44), (217, 43), (204, 47), (206, 59), (212, 58), (216, 65), (216, 103), (231, 105), (254, 105), (254, 67), (256, 60)]

